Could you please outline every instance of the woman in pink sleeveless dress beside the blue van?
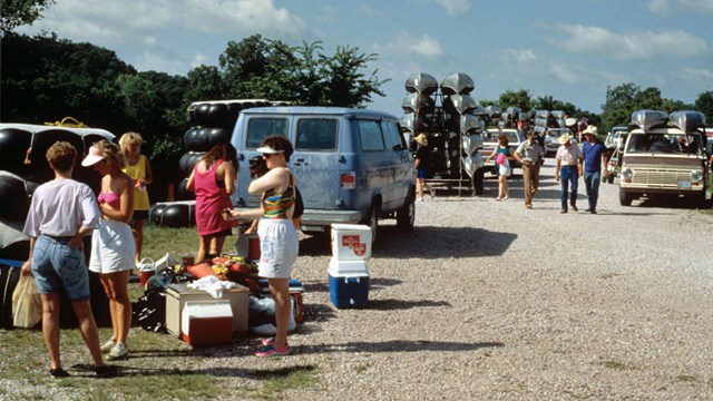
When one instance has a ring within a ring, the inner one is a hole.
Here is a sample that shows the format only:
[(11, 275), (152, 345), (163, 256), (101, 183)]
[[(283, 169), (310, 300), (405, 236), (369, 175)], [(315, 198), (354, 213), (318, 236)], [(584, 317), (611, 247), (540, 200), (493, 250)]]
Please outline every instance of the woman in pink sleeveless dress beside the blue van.
[(198, 253), (195, 262), (217, 256), (223, 251), (225, 236), (232, 234), (234, 222), (221, 217), (225, 208), (233, 208), (231, 195), (235, 192), (237, 153), (231, 144), (215, 145), (193, 167), (187, 188), (196, 194), (196, 226)]

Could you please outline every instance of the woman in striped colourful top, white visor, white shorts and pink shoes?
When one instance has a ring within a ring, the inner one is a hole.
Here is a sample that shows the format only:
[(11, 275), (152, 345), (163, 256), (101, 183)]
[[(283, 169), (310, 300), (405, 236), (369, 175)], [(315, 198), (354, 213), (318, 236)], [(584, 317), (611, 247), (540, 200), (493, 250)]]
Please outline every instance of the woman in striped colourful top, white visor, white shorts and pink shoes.
[(260, 236), (260, 276), (267, 278), (270, 292), (275, 301), (275, 326), (273, 339), (262, 340), (257, 356), (286, 355), (287, 327), (292, 303), (290, 302), (290, 275), (297, 260), (300, 243), (292, 223), (295, 208), (295, 185), (287, 162), (293, 153), (290, 140), (282, 136), (266, 137), (257, 151), (263, 154), (268, 172), (250, 184), (251, 194), (262, 194), (262, 207), (250, 212), (225, 209), (224, 217), (252, 219), (262, 217), (257, 225)]

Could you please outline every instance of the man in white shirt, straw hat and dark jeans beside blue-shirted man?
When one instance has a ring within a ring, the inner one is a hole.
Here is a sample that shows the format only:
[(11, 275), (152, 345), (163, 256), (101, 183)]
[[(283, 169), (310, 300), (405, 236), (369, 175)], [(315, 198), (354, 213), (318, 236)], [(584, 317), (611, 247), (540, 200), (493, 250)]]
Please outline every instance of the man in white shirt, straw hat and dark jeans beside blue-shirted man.
[(564, 134), (559, 137), (559, 149), (555, 155), (557, 160), (557, 167), (555, 168), (555, 180), (560, 180), (561, 177), (561, 211), (559, 213), (567, 213), (567, 193), (572, 187), (572, 194), (569, 195), (569, 206), (577, 212), (577, 182), (582, 176), (582, 160), (584, 156), (579, 150), (579, 147), (572, 143), (569, 134)]

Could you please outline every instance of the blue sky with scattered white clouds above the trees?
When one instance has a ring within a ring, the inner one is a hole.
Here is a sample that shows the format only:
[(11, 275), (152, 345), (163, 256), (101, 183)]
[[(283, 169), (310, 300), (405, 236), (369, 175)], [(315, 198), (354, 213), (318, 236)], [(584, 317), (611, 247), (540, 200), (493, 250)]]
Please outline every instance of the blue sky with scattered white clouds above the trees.
[[(694, 102), (713, 90), (713, 0), (57, 0), (22, 33), (53, 31), (138, 70), (185, 75), (261, 33), (379, 53), (370, 108), (401, 115), (403, 82), (468, 74), (476, 100), (508, 89), (600, 113), (607, 86)], [(713, 118), (713, 116), (710, 116)]]

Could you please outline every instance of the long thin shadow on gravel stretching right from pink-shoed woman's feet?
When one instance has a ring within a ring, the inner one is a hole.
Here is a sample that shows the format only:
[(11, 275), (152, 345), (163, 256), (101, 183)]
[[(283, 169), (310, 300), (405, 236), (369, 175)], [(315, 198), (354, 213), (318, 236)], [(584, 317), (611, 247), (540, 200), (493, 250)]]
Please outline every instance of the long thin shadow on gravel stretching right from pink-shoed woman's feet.
[(333, 353), (333, 352), (462, 352), (477, 351), (485, 348), (501, 348), (501, 342), (460, 343), (450, 341), (384, 341), (384, 342), (348, 342), (342, 344), (297, 345), (293, 349), (296, 353)]

